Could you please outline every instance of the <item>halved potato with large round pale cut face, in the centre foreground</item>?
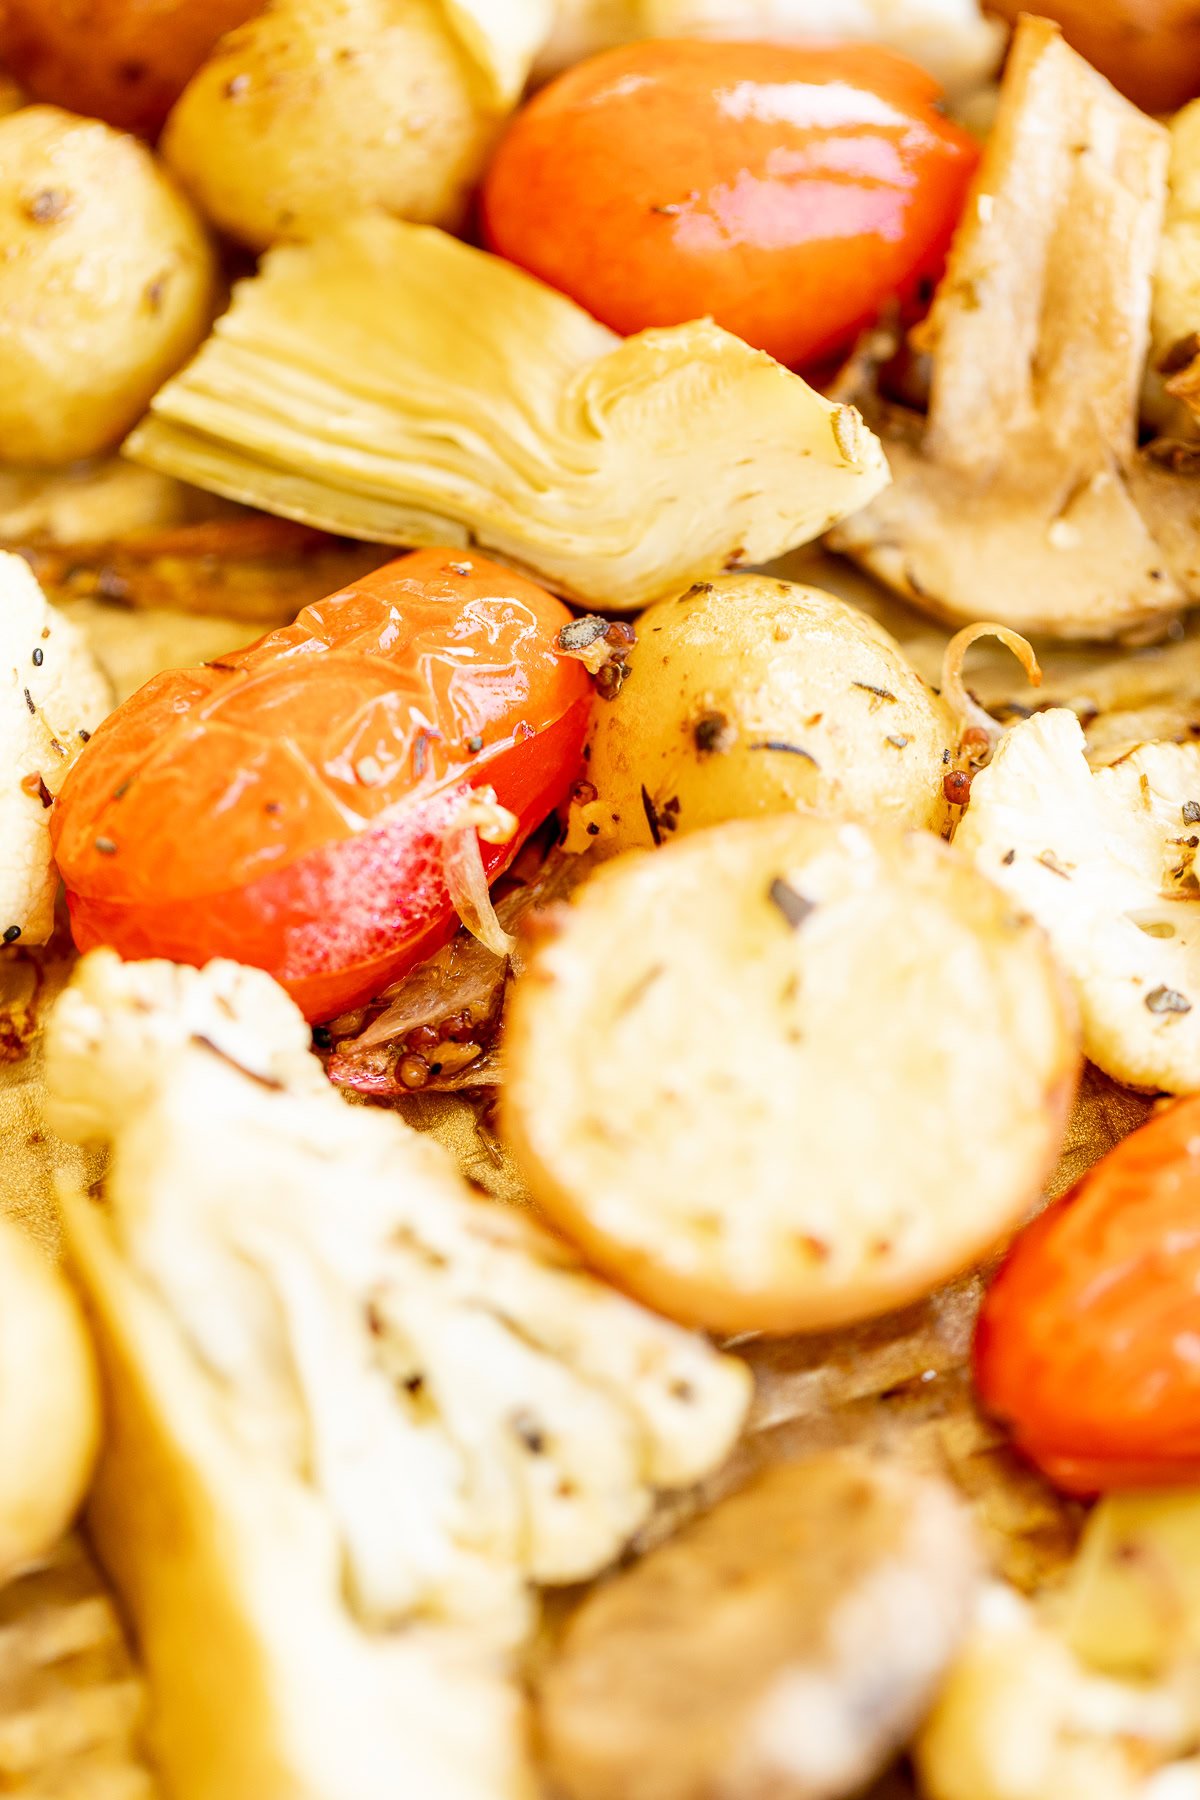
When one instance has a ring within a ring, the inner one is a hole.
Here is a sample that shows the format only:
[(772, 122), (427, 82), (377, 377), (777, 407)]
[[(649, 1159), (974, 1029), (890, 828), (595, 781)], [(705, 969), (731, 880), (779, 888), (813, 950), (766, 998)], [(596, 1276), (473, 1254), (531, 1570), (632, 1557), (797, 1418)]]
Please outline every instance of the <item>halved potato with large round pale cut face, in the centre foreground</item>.
[(1076, 1080), (1040, 931), (936, 837), (815, 815), (601, 869), (507, 1031), (534, 1199), (718, 1330), (849, 1323), (966, 1267), (1038, 1193)]

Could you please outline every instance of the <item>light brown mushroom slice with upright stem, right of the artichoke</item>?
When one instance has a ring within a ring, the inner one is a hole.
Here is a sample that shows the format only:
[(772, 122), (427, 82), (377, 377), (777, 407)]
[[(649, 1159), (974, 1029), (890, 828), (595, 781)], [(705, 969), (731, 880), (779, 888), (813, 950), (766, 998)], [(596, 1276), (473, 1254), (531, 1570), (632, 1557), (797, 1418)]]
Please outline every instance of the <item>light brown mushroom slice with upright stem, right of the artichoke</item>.
[(928, 416), (837, 547), (946, 619), (1151, 635), (1200, 596), (1200, 488), (1137, 448), (1168, 140), (1025, 18), (925, 328)]

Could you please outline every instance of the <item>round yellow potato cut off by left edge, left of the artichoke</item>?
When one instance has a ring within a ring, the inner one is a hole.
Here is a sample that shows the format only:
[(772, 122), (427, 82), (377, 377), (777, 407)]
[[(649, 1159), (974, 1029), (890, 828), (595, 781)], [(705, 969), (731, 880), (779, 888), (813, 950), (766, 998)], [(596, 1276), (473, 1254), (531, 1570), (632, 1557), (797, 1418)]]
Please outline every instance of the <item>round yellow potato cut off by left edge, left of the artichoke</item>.
[(0, 121), (0, 455), (124, 437), (212, 317), (200, 220), (137, 139), (56, 106)]

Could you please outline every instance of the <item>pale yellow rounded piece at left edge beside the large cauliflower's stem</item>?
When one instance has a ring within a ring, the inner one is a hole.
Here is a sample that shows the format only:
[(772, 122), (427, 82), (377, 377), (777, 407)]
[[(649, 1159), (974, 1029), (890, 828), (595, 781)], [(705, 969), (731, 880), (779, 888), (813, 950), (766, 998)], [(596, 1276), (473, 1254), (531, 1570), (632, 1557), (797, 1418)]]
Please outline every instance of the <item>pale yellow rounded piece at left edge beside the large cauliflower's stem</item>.
[(99, 1445), (99, 1388), (63, 1276), (0, 1215), (0, 1582), (70, 1525)]

